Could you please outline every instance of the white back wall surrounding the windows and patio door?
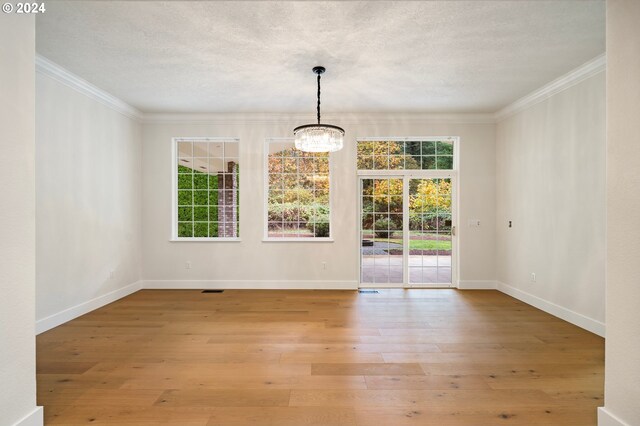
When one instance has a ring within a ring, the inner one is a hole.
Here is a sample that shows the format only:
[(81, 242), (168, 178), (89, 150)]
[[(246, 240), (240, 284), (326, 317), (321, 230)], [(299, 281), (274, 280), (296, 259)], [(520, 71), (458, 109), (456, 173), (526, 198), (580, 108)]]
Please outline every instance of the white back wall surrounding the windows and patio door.
[[(276, 280), (310, 287), (353, 288), (358, 281), (356, 137), (460, 136), (460, 223), (482, 221), (480, 228), (460, 230), (460, 279), (494, 279), (495, 126), (432, 122), (429, 120), (368, 120), (349, 116), (335, 121), (347, 134), (345, 148), (332, 158), (333, 243), (262, 242), (263, 146), (265, 138), (287, 137), (299, 125), (284, 117), (225, 118), (210, 116), (202, 122), (150, 122), (143, 126), (143, 272), (145, 280), (255, 281)], [(341, 124), (342, 123), (342, 124)], [(241, 242), (170, 242), (171, 138), (219, 136), (240, 138)], [(191, 261), (192, 269), (184, 264)], [(321, 262), (327, 262), (323, 270)], [(329, 283), (327, 281), (332, 281)], [(183, 283), (184, 284), (184, 283)], [(159, 285), (159, 283), (155, 283)], [(201, 284), (196, 284), (196, 287)], [(266, 284), (273, 286), (273, 284)]]

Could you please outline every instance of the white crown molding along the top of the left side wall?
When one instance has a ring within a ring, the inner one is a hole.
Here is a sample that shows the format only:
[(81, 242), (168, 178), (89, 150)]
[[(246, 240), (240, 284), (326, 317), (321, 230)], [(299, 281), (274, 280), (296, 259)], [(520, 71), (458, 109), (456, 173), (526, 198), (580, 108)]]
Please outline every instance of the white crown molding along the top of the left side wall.
[(36, 54), (36, 72), (46, 75), (47, 77), (51, 77), (57, 82), (62, 83), (129, 118), (138, 121), (143, 118), (142, 112), (136, 108), (38, 54)]

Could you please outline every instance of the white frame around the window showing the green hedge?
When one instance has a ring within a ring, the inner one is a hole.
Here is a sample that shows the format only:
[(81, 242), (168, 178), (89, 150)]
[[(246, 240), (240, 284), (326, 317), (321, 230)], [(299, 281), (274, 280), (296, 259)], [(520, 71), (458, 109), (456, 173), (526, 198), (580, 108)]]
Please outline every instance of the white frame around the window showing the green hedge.
[[(172, 242), (239, 242), (240, 237), (178, 237), (178, 142), (229, 142), (238, 144), (238, 164), (241, 163), (241, 145), (238, 138), (226, 137), (187, 137), (171, 138), (171, 236)], [(240, 188), (238, 189), (240, 191)], [(240, 192), (242, 194), (242, 192)], [(238, 207), (240, 199), (238, 198)], [(240, 217), (238, 217), (240, 223)]]

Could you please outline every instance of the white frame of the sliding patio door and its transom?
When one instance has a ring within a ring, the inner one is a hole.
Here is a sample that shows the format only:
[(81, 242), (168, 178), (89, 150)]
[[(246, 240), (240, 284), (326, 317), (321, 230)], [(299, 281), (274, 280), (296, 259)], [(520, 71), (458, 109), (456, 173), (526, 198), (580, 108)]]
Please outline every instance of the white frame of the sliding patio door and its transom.
[[(376, 142), (376, 141), (393, 141), (393, 142), (422, 142), (422, 141), (433, 141), (433, 142), (453, 142), (453, 168), (452, 169), (399, 169), (399, 170), (360, 170), (358, 169), (357, 161), (358, 161), (358, 142)], [(367, 138), (357, 138), (356, 139), (356, 196), (357, 200), (357, 210), (356, 210), (356, 252), (358, 253), (358, 264), (356, 266), (357, 274), (358, 274), (358, 286), (360, 288), (389, 288), (388, 284), (375, 284), (375, 283), (362, 283), (360, 280), (362, 279), (362, 268), (361, 268), (361, 235), (360, 232), (362, 230), (362, 193), (361, 193), (361, 180), (363, 178), (375, 178), (375, 177), (390, 177), (390, 178), (401, 178), (403, 179), (403, 232), (404, 229), (409, 229), (409, 180), (410, 179), (451, 179), (453, 182), (452, 188), (452, 197), (453, 197), (453, 217), (451, 225), (455, 227), (455, 237), (456, 240), (452, 240), (452, 264), (451, 264), (451, 285), (445, 286), (450, 288), (460, 288), (460, 234), (462, 230), (459, 226), (460, 220), (460, 172), (459, 172), (459, 159), (460, 159), (460, 137), (459, 136), (409, 136), (409, 137), (388, 137), (388, 136), (379, 136), (379, 137), (367, 137)], [(453, 228), (452, 228), (453, 229)], [(403, 283), (398, 287), (402, 288), (442, 288), (441, 285), (430, 285), (430, 284), (420, 284), (415, 285), (408, 282), (408, 253), (409, 253), (409, 241), (408, 239), (404, 239), (403, 241)]]

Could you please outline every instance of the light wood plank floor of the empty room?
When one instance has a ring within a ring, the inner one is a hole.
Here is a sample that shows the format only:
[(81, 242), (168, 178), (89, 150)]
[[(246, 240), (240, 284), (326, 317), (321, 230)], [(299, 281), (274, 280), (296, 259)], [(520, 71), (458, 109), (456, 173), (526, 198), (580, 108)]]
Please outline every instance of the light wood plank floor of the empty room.
[(603, 339), (497, 291), (144, 290), (37, 338), (57, 425), (576, 425)]

